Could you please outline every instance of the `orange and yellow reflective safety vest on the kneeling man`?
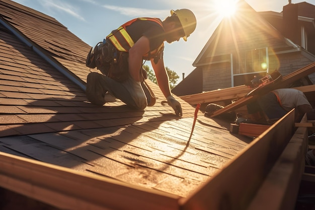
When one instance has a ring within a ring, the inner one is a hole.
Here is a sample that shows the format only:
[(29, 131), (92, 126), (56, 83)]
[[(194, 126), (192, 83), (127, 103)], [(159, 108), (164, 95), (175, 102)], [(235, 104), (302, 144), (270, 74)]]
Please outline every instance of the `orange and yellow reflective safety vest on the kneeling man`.
[[(128, 21), (124, 25), (120, 26), (118, 29), (112, 31), (106, 38), (109, 39), (112, 44), (116, 47), (117, 50), (122, 52), (128, 52), (129, 49), (134, 45), (134, 41), (126, 31), (126, 27), (130, 26), (135, 21), (153, 21), (155, 23), (160, 24), (160, 26), (163, 27), (162, 21), (157, 18), (136, 18), (131, 21)], [(161, 50), (164, 47), (164, 43), (162, 43), (159, 47), (156, 49), (147, 52), (145, 55), (143, 55), (143, 59), (148, 60), (151, 59), (161, 52)]]

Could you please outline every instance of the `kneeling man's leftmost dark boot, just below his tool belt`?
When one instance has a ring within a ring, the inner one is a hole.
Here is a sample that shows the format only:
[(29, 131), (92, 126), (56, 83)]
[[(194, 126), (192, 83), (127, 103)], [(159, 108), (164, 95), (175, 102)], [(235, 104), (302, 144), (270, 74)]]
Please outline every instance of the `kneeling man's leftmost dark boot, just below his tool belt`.
[(100, 77), (102, 77), (102, 75), (96, 72), (92, 72), (88, 75), (86, 94), (92, 104), (103, 106), (106, 103), (104, 97), (107, 91), (101, 86), (99, 82)]

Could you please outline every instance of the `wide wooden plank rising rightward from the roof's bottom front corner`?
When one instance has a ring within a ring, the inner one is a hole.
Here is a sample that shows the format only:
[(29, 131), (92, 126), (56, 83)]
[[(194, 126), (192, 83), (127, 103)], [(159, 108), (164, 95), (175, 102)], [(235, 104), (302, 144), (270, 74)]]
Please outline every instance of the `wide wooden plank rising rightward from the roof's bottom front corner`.
[(294, 128), (290, 111), (242, 153), (187, 198), (182, 209), (245, 209), (289, 142)]

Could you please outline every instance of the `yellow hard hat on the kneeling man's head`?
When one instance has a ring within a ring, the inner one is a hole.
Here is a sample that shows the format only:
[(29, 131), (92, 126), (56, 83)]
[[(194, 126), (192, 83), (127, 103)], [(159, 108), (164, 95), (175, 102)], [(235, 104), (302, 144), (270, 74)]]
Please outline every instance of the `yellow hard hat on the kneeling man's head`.
[(171, 10), (171, 15), (173, 14), (175, 14), (181, 22), (185, 33), (183, 39), (187, 41), (187, 37), (189, 37), (189, 35), (196, 29), (197, 21), (195, 15), (188, 9), (180, 9), (175, 11)]

